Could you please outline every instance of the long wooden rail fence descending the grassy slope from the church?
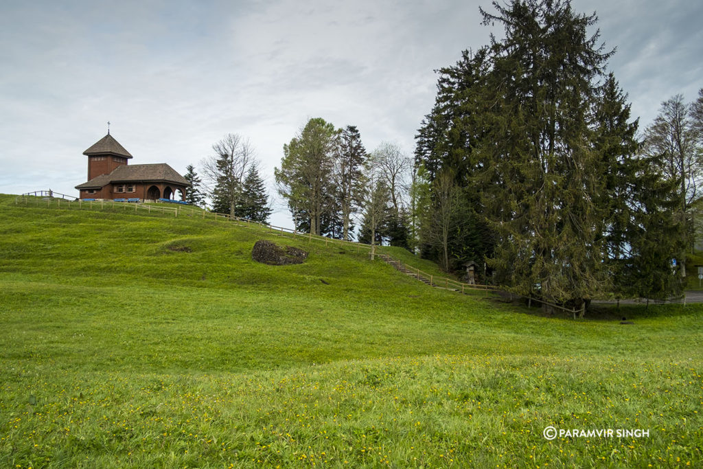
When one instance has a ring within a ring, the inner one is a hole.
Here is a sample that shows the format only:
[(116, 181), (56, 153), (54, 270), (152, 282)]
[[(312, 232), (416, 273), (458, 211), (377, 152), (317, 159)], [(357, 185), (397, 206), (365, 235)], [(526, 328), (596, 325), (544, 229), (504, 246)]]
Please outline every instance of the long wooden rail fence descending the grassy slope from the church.
[[(56, 195), (60, 195), (60, 198), (57, 198)], [(34, 197), (34, 200), (31, 200), (30, 197)], [(263, 227), (264, 229), (269, 229), (271, 231), (278, 231), (280, 233), (285, 233), (288, 235), (292, 235), (294, 238), (304, 238), (309, 241), (317, 241), (321, 243), (325, 243), (325, 246), (327, 245), (340, 245), (340, 246), (347, 246), (348, 248), (356, 248), (357, 252), (359, 252), (362, 249), (366, 250), (371, 250), (372, 246), (370, 244), (366, 243), (359, 243), (356, 241), (347, 241), (347, 240), (340, 240), (340, 239), (334, 239), (334, 238), (328, 238), (326, 236), (318, 236), (318, 235), (313, 235), (311, 233), (301, 233), (300, 231), (297, 231), (296, 229), (290, 229), (290, 228), (285, 228), (283, 226), (276, 226), (276, 225), (271, 225), (271, 224), (266, 224), (266, 223), (261, 223), (259, 221), (252, 221), (250, 219), (245, 219), (245, 218), (240, 218), (240, 217), (235, 217), (230, 214), (222, 214), (222, 213), (217, 213), (217, 212), (208, 212), (207, 210), (202, 210), (202, 209), (195, 209), (194, 207), (188, 207), (187, 205), (177, 205), (176, 207), (167, 207), (167, 206), (162, 206), (161, 204), (159, 205), (148, 205), (148, 204), (143, 204), (143, 203), (129, 203), (129, 202), (115, 202), (115, 200), (81, 200), (81, 199), (76, 199), (75, 200), (68, 200), (68, 198), (73, 198), (69, 195), (64, 195), (64, 194), (58, 194), (53, 191), (35, 191), (33, 193), (26, 193), (22, 195), (18, 195), (15, 197), (15, 205), (19, 205), (20, 203), (24, 203), (24, 205), (34, 205), (37, 207), (44, 207), (44, 204), (46, 203), (46, 207), (50, 208), (52, 207), (52, 203), (55, 202), (56, 207), (58, 208), (67, 208), (70, 210), (71, 207), (77, 207), (79, 209), (82, 208), (89, 208), (89, 209), (103, 209), (103, 208), (114, 208), (114, 207), (122, 207), (124, 208), (125, 211), (131, 211), (132, 207), (134, 207), (134, 212), (147, 212), (147, 213), (162, 213), (162, 214), (168, 214), (171, 215), (173, 214), (174, 217), (179, 217), (179, 214), (181, 217), (183, 215), (186, 215), (188, 217), (199, 217), (202, 219), (214, 219), (215, 221), (218, 220), (223, 220), (223, 221), (235, 221), (237, 222), (238, 225), (240, 226), (252, 226), (252, 225), (257, 225), (260, 227)], [(380, 248), (380, 246), (375, 246), (375, 248)], [(425, 271), (421, 271), (420, 269), (417, 269), (416, 267), (413, 267), (408, 264), (404, 264), (401, 261), (397, 259), (393, 259), (391, 256), (387, 254), (376, 254), (377, 257), (380, 257), (380, 259), (383, 260), (383, 262), (386, 262), (387, 264), (390, 264), (394, 266), (399, 271), (404, 271), (407, 274), (411, 274), (411, 276), (414, 276), (415, 278), (418, 279), (418, 281), (425, 281), (428, 285), (432, 285), (434, 287), (444, 287), (449, 290), (454, 290), (458, 293), (465, 293), (467, 290), (484, 290), (486, 293), (487, 292), (505, 292), (506, 290), (504, 288), (501, 288), (496, 285), (481, 285), (481, 284), (472, 284), (472, 283), (463, 283), (460, 281), (456, 281), (453, 278), (449, 277), (443, 277), (443, 276), (436, 276), (434, 274), (428, 274)], [(512, 295), (512, 294), (511, 294)], [(583, 309), (569, 309), (567, 307), (563, 307), (559, 304), (554, 304), (550, 302), (546, 302), (544, 300), (539, 300), (538, 298), (533, 298), (533, 297), (524, 297), (522, 295), (515, 295), (516, 297), (522, 297), (527, 300), (528, 306), (531, 306), (532, 302), (538, 302), (542, 304), (548, 304), (548, 306), (556, 308), (556, 309), (561, 309), (562, 311), (565, 311), (569, 314), (574, 314), (574, 318), (576, 317), (576, 314), (583, 314)]]

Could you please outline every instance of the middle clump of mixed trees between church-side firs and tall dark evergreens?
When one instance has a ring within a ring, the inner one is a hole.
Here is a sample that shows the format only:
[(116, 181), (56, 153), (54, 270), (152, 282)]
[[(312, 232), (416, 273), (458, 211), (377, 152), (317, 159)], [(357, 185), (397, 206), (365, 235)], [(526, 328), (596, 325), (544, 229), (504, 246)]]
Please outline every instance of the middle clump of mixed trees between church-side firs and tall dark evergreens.
[(411, 159), (393, 143), (368, 153), (353, 125), (310, 119), (283, 148), (274, 175), (298, 231), (408, 247)]

